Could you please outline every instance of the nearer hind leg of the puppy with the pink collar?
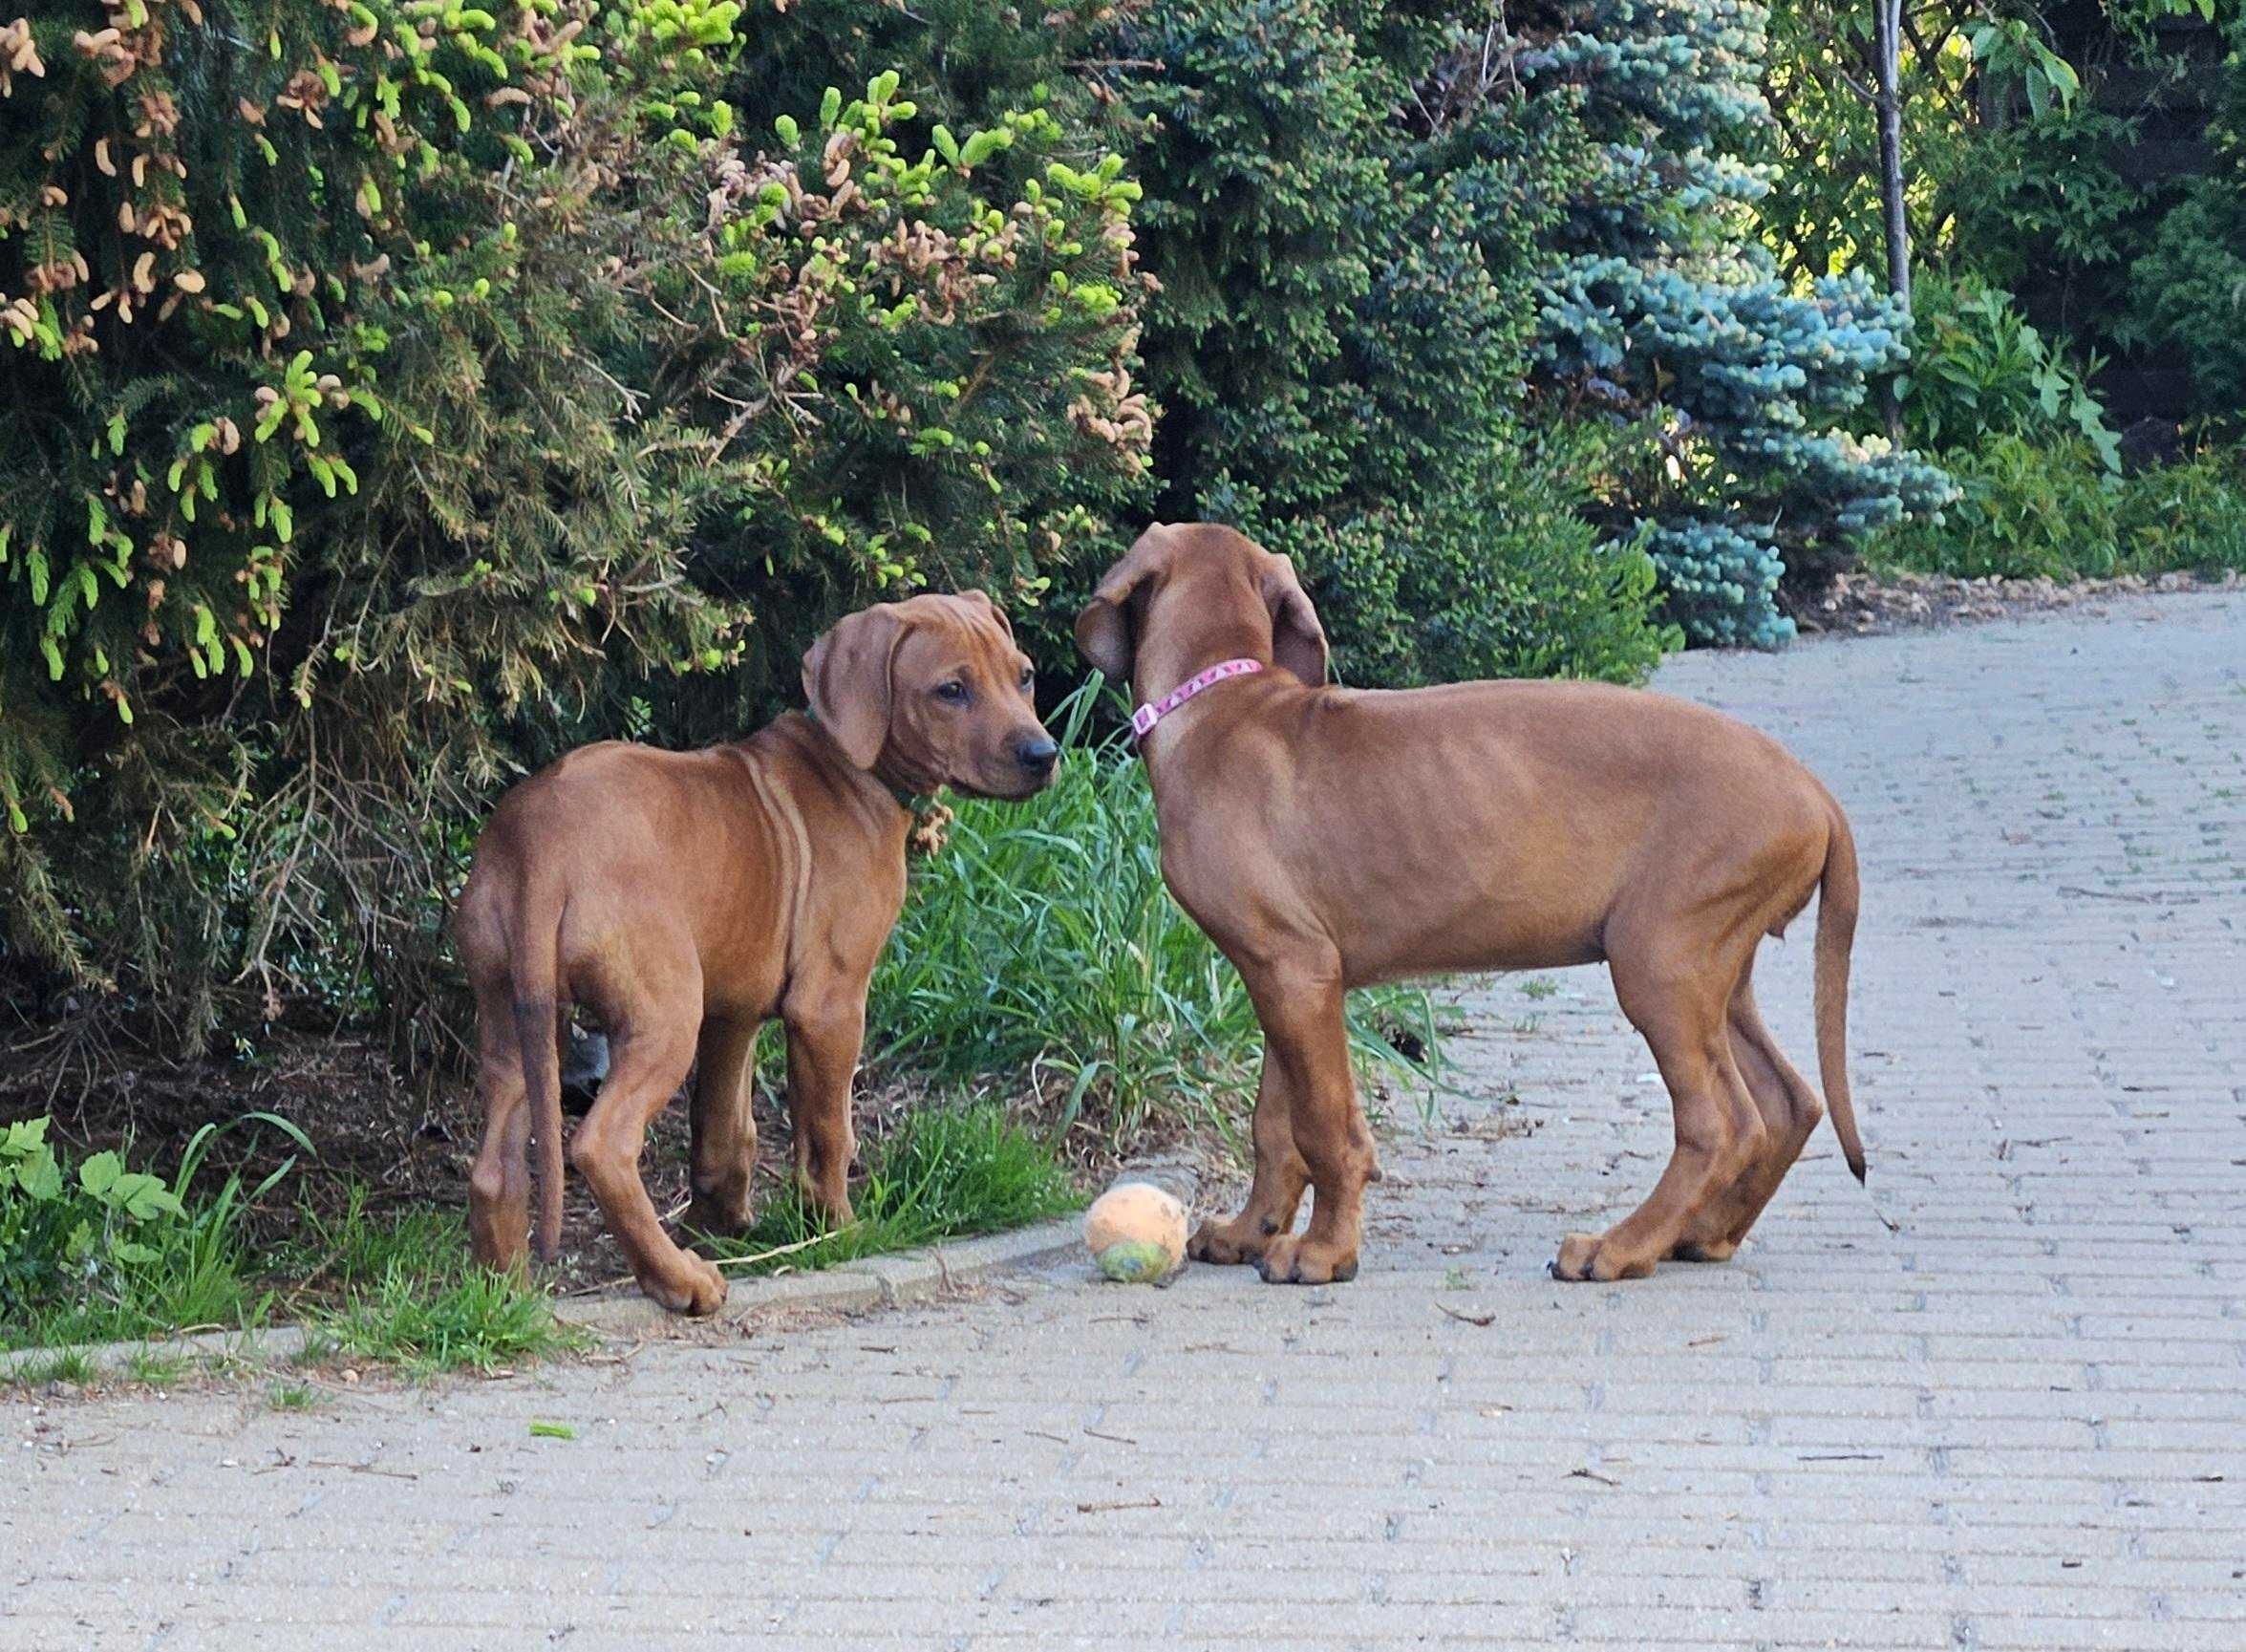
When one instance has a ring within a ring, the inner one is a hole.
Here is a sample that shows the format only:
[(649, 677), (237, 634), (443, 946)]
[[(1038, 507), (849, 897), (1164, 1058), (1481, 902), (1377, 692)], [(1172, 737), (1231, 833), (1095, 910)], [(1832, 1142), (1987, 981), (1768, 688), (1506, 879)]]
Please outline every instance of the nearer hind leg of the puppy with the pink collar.
[(1615, 996), (1669, 1086), (1676, 1149), (1644, 1205), (1604, 1234), (1561, 1241), (1556, 1279), (1644, 1279), (1702, 1205), (1768, 1153), (1763, 1115), (1732, 1059), (1727, 1005), (1741, 969), (1711, 971), (1684, 946), (1653, 957), (1615, 953)]

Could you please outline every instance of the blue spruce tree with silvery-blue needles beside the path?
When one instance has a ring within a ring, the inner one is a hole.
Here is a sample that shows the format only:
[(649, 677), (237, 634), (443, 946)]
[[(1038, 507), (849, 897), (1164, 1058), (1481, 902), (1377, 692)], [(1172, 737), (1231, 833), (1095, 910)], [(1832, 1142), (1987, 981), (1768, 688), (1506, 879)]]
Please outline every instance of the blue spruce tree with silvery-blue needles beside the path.
[(1952, 497), (1920, 456), (1855, 434), (1905, 362), (1907, 315), (1860, 274), (1790, 288), (1754, 236), (1768, 184), (1727, 146), (1768, 119), (1761, 0), (1545, 16), (1523, 79), (1577, 108), (1601, 166), (1556, 236), (1543, 371), (1628, 427), (1615, 515), (1649, 535), (1671, 616), (1702, 643), (1774, 647), (1792, 636), (1781, 578)]

